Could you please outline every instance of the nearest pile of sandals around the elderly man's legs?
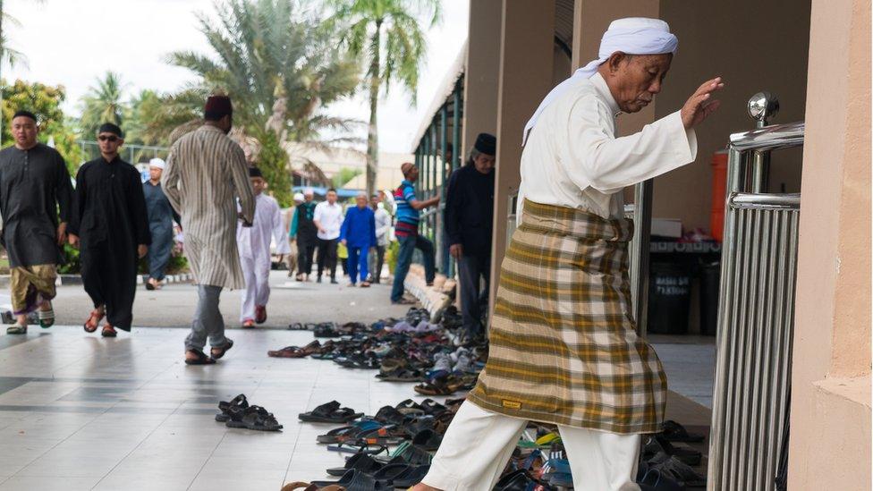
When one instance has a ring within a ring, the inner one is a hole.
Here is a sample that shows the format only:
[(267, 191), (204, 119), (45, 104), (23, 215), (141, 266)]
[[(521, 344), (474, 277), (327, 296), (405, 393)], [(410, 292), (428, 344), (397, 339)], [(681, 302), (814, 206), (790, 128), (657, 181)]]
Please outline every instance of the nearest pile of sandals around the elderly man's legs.
[[(348, 453), (345, 465), (326, 470), (334, 479), (292, 482), (283, 491), (408, 489), (428, 474), (430, 461), (463, 398), (437, 402), (407, 399), (384, 406), (375, 415), (322, 404), (300, 414), (306, 422), (339, 426), (317, 436), (332, 452)], [(689, 433), (675, 421), (643, 438), (637, 483), (642, 491), (679, 491), (706, 487), (706, 478), (691, 466), (701, 464), (699, 451), (685, 445), (699, 443), (702, 435)], [(558, 491), (572, 489), (572, 470), (557, 428), (530, 422), (501, 474), (495, 491)]]

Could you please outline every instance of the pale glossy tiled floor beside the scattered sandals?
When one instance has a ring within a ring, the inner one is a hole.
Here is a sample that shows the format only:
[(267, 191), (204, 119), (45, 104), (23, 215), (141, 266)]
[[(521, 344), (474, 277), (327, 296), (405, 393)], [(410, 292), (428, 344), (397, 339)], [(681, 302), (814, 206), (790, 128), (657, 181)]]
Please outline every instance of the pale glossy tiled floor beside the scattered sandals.
[[(104, 340), (55, 326), (0, 335), (0, 490), (277, 491), (343, 463), (315, 443), (332, 427), (301, 424), (299, 412), (336, 399), (373, 413), (413, 394), (372, 371), (267, 358), (268, 349), (309, 343), (307, 332), (234, 330), (233, 351), (208, 367), (182, 363), (185, 334), (140, 328)], [(705, 357), (690, 361), (674, 346), (657, 350), (682, 386), (687, 364)], [(273, 411), (284, 431), (216, 423), (216, 402), (240, 393)]]

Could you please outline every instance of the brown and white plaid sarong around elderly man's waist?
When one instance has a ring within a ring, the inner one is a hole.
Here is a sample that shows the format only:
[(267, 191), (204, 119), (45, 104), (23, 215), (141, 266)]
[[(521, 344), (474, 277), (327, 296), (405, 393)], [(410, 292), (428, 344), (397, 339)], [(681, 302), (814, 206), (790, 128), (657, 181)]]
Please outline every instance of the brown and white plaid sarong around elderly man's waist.
[(632, 228), (630, 220), (524, 202), (470, 402), (573, 428), (658, 431), (666, 377), (631, 317)]

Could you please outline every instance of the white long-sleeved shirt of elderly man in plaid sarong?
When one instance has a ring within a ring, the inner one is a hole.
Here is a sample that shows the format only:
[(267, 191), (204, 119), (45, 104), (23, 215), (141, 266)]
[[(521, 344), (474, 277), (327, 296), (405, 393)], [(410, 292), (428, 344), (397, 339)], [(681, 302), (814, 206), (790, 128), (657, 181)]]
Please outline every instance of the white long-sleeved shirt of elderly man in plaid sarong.
[(697, 137), (685, 130), (678, 111), (615, 138), (620, 113), (599, 73), (547, 106), (521, 153), (519, 220), (524, 199), (623, 216), (624, 187), (694, 161)]

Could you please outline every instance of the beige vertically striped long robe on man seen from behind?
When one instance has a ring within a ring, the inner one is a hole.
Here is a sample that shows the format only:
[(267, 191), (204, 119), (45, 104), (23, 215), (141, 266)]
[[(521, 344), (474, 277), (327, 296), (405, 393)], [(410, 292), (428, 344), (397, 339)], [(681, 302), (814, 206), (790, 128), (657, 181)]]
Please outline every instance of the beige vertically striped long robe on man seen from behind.
[(255, 214), (248, 169), (242, 148), (213, 126), (191, 131), (170, 148), (161, 185), (182, 216), (196, 284), (245, 288), (236, 226), (237, 199), (247, 221)]

